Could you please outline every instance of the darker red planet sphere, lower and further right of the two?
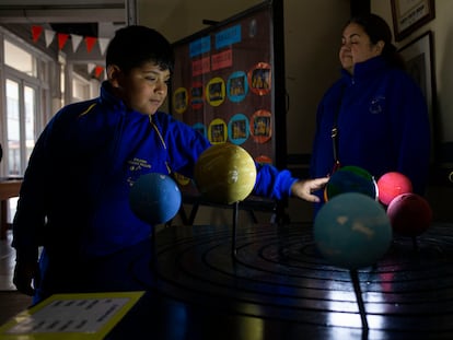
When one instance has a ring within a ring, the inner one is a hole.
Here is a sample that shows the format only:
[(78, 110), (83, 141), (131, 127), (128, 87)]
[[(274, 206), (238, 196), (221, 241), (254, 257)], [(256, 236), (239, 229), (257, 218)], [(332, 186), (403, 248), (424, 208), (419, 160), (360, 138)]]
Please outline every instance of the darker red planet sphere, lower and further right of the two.
[(395, 197), (387, 208), (387, 215), (396, 234), (418, 236), (431, 225), (432, 210), (428, 201), (413, 192)]

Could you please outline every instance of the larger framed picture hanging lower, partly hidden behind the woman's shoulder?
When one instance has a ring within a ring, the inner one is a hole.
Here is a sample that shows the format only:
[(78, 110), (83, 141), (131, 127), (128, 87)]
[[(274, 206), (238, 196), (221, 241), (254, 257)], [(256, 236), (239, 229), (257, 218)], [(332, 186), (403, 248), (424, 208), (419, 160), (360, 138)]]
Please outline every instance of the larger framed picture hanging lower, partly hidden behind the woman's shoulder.
[(431, 134), (434, 132), (433, 115), (437, 91), (433, 51), (433, 36), (431, 31), (423, 33), (398, 49), (398, 52), (406, 62), (407, 72), (419, 85), (427, 101), (429, 119), (431, 124)]

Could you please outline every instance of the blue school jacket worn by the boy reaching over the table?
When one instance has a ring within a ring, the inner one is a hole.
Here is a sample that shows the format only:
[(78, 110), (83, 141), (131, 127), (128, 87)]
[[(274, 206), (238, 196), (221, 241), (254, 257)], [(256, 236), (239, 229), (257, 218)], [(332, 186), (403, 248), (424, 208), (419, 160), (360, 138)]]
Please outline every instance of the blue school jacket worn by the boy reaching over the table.
[[(13, 221), (18, 261), (49, 256), (105, 256), (148, 238), (151, 227), (129, 208), (142, 174), (193, 177), (209, 141), (171, 115), (128, 110), (104, 82), (100, 97), (62, 108), (30, 159)], [(258, 165), (255, 195), (280, 199), (297, 180), (288, 171)]]

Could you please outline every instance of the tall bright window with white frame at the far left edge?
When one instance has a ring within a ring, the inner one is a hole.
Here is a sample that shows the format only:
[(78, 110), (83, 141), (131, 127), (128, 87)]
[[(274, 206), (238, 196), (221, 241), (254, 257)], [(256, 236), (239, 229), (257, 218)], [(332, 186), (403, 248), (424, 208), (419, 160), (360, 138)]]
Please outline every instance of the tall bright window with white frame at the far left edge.
[[(1, 137), (4, 164), (0, 176), (23, 176), (35, 141), (49, 118), (49, 65), (51, 59), (19, 37), (0, 31), (0, 51), (4, 65), (0, 65), (3, 82), (0, 107), (4, 122)], [(2, 162), (3, 163), (3, 162)]]

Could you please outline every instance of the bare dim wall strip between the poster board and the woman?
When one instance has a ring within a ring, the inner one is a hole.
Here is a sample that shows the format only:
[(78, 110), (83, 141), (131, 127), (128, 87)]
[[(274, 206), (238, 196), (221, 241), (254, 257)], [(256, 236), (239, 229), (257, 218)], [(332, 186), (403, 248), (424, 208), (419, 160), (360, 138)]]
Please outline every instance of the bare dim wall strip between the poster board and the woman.
[(284, 2), (288, 153), (311, 153), (317, 104), (339, 77), (338, 48), (349, 1)]

